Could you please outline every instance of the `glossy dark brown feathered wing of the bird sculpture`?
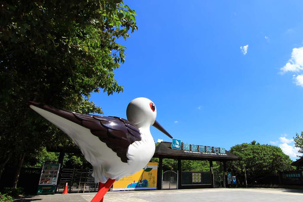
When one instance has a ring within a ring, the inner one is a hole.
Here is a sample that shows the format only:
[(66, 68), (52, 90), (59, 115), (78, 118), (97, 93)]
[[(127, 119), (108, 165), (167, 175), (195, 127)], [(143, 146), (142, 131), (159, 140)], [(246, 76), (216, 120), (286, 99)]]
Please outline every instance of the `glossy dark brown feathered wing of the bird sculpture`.
[(29, 104), (90, 129), (93, 135), (97, 136), (99, 140), (117, 153), (117, 156), (125, 163), (128, 160), (126, 156), (128, 146), (135, 141), (141, 141), (139, 129), (123, 118), (78, 114), (32, 101), (29, 101)]

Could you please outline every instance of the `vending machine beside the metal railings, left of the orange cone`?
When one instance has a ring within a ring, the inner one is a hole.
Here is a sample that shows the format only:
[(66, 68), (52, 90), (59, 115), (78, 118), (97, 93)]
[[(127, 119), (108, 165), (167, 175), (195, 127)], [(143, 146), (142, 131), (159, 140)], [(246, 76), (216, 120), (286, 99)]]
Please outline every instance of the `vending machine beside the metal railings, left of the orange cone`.
[(38, 185), (38, 194), (55, 193), (60, 164), (44, 163)]

